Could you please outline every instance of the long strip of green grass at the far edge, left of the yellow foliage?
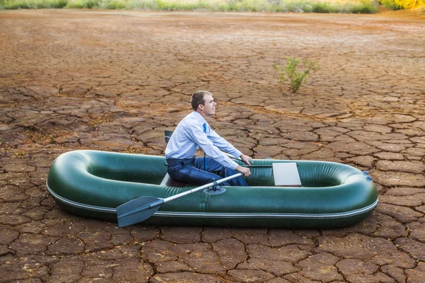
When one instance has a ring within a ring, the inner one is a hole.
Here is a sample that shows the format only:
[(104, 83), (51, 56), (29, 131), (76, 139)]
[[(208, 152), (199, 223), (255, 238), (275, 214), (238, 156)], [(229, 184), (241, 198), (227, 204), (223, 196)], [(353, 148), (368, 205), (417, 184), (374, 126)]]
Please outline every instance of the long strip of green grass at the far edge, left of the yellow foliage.
[(0, 0), (0, 8), (105, 8), (152, 11), (198, 10), (223, 12), (375, 13), (378, 12), (378, 4), (375, 1), (377, 0)]

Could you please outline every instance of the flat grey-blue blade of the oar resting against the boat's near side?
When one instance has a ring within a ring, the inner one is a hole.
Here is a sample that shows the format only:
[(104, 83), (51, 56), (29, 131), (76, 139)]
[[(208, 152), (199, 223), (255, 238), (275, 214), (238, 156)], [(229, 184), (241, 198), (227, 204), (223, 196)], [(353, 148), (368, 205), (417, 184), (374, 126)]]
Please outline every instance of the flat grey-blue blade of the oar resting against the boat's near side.
[(118, 226), (128, 226), (144, 221), (152, 216), (160, 206), (147, 207), (146, 209), (139, 210), (142, 207), (152, 204), (152, 202), (158, 202), (162, 199), (158, 197), (138, 197), (130, 202), (125, 202), (117, 207)]

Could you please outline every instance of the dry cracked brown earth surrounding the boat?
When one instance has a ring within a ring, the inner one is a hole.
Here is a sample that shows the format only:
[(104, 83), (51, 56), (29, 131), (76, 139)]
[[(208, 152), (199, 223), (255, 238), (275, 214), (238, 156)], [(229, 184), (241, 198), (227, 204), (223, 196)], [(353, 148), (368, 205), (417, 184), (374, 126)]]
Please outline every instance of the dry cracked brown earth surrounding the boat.
[[(0, 282), (425, 282), (425, 21), (290, 13), (0, 11)], [(319, 61), (297, 94), (273, 62)], [(47, 171), (72, 149), (161, 155), (211, 122), (254, 158), (370, 171), (346, 229), (145, 226), (63, 212)]]

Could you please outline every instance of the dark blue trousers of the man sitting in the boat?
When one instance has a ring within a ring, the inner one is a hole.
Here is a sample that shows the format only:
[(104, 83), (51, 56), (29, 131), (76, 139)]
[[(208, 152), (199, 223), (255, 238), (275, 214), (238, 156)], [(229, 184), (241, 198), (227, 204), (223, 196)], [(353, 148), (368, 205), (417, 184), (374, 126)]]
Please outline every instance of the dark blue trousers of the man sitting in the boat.
[[(168, 173), (172, 179), (193, 185), (205, 185), (237, 174), (236, 170), (222, 166), (210, 157), (206, 158), (207, 171), (203, 170), (205, 168), (203, 157), (188, 159), (167, 158), (166, 162), (168, 163)], [(242, 177), (238, 177), (220, 185), (247, 186), (248, 184)]]

